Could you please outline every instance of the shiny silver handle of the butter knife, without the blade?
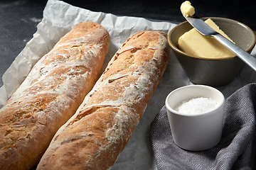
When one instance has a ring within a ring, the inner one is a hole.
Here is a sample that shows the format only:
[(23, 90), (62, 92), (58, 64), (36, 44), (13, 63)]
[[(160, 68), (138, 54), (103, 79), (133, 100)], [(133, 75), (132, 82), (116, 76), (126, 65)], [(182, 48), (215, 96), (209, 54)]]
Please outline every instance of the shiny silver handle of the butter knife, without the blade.
[(245, 50), (242, 50), (242, 48), (238, 47), (238, 45), (235, 45), (233, 42), (228, 40), (227, 38), (223, 37), (221, 34), (213, 35), (216, 40), (221, 42), (225, 47), (228, 47), (229, 50), (231, 50), (235, 55), (240, 57), (240, 59), (245, 62), (248, 66), (250, 66), (252, 69), (256, 72), (256, 58), (250, 55)]

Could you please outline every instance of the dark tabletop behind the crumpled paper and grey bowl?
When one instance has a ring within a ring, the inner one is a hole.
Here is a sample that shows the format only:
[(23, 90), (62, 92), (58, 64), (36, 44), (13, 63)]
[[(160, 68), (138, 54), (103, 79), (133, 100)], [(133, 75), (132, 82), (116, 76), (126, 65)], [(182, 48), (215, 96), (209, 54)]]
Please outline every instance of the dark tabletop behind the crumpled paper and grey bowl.
[[(65, 0), (68, 4), (119, 16), (137, 16), (162, 21), (182, 22), (179, 7), (183, 1), (78, 1)], [(47, 0), (0, 0), (0, 77), (8, 69), (26, 43), (36, 33), (36, 26), (43, 18)], [(245, 23), (256, 31), (256, 1), (191, 0), (199, 16), (232, 18)], [(3, 85), (0, 80), (0, 86)], [(0, 94), (1, 95), (1, 94)]]

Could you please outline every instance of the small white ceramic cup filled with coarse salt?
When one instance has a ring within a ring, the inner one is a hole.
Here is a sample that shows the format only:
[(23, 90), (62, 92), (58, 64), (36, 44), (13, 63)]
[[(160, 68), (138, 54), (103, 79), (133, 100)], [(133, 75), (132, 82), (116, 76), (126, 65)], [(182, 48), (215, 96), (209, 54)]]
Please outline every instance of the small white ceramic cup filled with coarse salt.
[(171, 91), (166, 111), (178, 147), (210, 149), (220, 142), (224, 118), (223, 94), (211, 86), (190, 85)]

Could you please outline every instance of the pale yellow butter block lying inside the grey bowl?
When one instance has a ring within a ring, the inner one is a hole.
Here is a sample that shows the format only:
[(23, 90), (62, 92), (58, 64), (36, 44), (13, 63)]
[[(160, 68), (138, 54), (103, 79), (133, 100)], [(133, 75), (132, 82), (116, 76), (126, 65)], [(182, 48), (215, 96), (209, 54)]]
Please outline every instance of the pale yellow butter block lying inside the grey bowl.
[[(223, 32), (223, 30), (220, 30), (220, 28), (210, 18), (205, 22), (215, 31), (233, 42), (233, 40), (231, 40), (228, 35)], [(228, 48), (218, 42), (218, 40), (201, 35), (201, 33), (198, 33), (195, 28), (181, 35), (181, 37), (178, 39), (178, 48), (183, 52), (186, 52), (188, 55), (193, 55), (196, 57), (218, 59), (235, 56), (233, 52), (228, 50)]]

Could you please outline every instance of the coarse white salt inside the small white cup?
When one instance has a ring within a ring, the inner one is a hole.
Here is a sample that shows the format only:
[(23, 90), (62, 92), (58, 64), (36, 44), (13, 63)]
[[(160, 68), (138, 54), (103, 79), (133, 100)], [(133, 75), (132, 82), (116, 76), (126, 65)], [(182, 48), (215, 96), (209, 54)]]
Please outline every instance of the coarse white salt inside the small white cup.
[(183, 101), (174, 110), (184, 114), (201, 114), (213, 111), (217, 106), (216, 101), (211, 98), (192, 98), (189, 101)]

